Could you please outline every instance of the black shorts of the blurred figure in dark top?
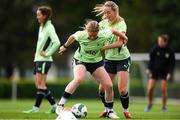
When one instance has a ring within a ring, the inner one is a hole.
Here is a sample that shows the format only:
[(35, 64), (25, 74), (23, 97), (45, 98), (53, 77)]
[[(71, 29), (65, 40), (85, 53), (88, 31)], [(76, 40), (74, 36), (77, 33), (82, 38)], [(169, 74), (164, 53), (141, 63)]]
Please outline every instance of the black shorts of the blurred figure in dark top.
[(151, 72), (152, 76), (151, 78), (152, 79), (155, 79), (155, 80), (158, 80), (158, 79), (165, 79), (166, 80), (166, 77), (167, 77), (167, 72)]

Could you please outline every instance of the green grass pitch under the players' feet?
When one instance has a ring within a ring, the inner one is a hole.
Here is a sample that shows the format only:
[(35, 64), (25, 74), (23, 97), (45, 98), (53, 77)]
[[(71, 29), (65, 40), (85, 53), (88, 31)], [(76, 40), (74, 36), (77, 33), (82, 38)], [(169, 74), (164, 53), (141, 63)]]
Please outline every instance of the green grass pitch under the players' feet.
[[(85, 119), (81, 120), (99, 120), (99, 113), (103, 110), (100, 100), (72, 100), (70, 99), (66, 106), (72, 106), (75, 103), (84, 103), (88, 108), (88, 115)], [(27, 110), (32, 107), (34, 100), (0, 100), (0, 119), (55, 119), (55, 114), (45, 114), (44, 112), (50, 107), (46, 100), (43, 101), (39, 113), (36, 114), (24, 114), (21, 111)], [(143, 100), (131, 100), (130, 111), (132, 112), (133, 119), (136, 120), (180, 120), (180, 104), (168, 102), (166, 113), (161, 112), (161, 104), (156, 102), (152, 108), (152, 111), (145, 113), (144, 107), (146, 101)], [(115, 101), (114, 110), (120, 116), (120, 119), (125, 119), (122, 114), (122, 108), (119, 101)], [(103, 118), (104, 120), (104, 118)], [(107, 119), (108, 120), (108, 119)]]

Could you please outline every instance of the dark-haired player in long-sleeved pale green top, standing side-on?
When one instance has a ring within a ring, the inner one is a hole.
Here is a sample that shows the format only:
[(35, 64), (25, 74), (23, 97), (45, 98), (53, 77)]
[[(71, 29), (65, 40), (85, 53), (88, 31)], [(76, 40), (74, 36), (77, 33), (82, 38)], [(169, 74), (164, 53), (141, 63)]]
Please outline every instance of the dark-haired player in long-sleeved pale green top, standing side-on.
[(41, 6), (37, 9), (36, 14), (37, 20), (40, 24), (34, 58), (34, 76), (37, 88), (37, 97), (33, 108), (23, 112), (38, 112), (43, 97), (46, 97), (52, 106), (47, 113), (54, 113), (57, 105), (51, 91), (46, 86), (46, 77), (53, 61), (52, 55), (59, 47), (60, 41), (50, 20), (52, 14), (51, 8), (48, 6)]

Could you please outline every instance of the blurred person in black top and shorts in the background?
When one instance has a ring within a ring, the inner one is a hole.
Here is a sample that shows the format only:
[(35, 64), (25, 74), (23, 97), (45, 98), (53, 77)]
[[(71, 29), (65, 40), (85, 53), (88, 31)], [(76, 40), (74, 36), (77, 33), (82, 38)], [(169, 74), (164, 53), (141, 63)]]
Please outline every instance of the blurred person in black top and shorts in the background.
[(148, 105), (144, 109), (145, 112), (151, 110), (153, 90), (158, 80), (161, 82), (162, 112), (167, 110), (167, 81), (171, 78), (175, 66), (175, 55), (168, 45), (168, 39), (166, 34), (159, 35), (157, 45), (150, 51), (150, 61), (146, 71), (150, 78), (147, 88)]

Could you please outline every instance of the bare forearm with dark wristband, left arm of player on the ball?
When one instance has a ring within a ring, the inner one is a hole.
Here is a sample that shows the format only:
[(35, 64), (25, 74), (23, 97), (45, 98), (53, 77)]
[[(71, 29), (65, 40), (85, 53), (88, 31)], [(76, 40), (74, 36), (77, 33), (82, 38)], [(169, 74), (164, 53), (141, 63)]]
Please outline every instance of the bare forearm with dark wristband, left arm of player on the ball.
[(67, 49), (74, 41), (75, 41), (75, 39), (74, 39), (73, 35), (71, 35), (71, 36), (67, 39), (66, 43), (59, 48), (59, 53), (60, 53), (60, 54), (63, 54), (63, 53), (66, 51), (66, 49)]

